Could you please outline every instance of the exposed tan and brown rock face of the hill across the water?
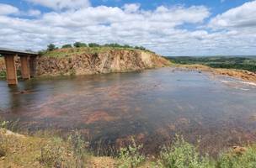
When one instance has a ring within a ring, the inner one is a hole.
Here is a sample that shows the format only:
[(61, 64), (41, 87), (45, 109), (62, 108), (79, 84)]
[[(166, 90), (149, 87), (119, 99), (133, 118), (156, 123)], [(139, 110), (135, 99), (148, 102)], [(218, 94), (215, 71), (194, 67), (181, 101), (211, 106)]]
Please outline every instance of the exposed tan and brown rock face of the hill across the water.
[(44, 55), (37, 60), (37, 75), (86, 75), (138, 71), (168, 64), (169, 61), (163, 57), (139, 50), (109, 50), (95, 54), (75, 53), (61, 58)]

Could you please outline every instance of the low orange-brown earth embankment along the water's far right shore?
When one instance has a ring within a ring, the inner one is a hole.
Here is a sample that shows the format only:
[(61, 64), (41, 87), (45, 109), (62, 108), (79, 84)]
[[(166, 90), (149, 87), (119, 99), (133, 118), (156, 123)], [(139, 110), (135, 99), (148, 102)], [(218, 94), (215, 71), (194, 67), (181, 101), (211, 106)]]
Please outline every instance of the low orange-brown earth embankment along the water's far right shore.
[(202, 65), (175, 65), (175, 67), (177, 67), (179, 70), (208, 71), (211, 72), (213, 75), (232, 76), (243, 79), (244, 81), (256, 81), (256, 73), (253, 73), (251, 71), (211, 68), (209, 66)]

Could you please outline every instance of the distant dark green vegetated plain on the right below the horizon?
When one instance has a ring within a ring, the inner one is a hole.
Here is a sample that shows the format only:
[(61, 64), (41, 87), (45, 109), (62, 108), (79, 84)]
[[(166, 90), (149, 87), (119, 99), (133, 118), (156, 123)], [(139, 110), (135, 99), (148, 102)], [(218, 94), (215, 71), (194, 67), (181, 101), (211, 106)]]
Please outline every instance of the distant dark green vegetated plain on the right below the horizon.
[(168, 60), (172, 60), (177, 64), (201, 64), (210, 66), (212, 68), (227, 68), (238, 69), (256, 72), (256, 57), (218, 57), (218, 56), (205, 56), (205, 57), (166, 57)]

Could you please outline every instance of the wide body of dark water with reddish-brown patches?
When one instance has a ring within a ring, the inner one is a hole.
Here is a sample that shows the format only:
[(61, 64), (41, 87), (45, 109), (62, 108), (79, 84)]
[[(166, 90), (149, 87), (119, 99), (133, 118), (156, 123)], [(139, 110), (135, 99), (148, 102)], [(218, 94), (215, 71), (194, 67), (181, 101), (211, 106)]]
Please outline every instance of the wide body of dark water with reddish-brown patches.
[(95, 76), (0, 81), (0, 117), (19, 127), (80, 130), (99, 155), (134, 137), (146, 153), (181, 134), (216, 155), (256, 140), (256, 87), (237, 79), (162, 68)]

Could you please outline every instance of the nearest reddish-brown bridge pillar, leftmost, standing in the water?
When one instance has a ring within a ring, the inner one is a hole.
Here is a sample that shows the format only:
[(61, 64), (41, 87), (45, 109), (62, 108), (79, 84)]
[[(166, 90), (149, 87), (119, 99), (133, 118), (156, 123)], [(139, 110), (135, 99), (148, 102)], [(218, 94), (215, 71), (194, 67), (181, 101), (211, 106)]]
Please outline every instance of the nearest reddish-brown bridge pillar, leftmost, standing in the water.
[(17, 71), (15, 66), (15, 55), (6, 55), (4, 56), (5, 66), (6, 66), (6, 73), (7, 73), (7, 83), (8, 85), (17, 85)]

